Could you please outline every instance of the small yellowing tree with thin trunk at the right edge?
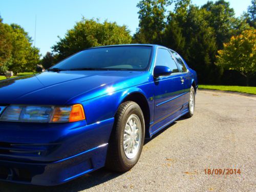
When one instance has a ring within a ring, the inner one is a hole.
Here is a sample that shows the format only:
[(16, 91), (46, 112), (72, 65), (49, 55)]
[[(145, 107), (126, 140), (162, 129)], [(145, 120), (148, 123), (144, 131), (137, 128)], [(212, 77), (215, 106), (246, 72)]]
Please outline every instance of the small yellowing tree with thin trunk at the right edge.
[(249, 77), (256, 72), (256, 30), (246, 30), (238, 36), (232, 36), (224, 44), (224, 49), (219, 50), (217, 66), (224, 69), (236, 70), (246, 78), (248, 86)]

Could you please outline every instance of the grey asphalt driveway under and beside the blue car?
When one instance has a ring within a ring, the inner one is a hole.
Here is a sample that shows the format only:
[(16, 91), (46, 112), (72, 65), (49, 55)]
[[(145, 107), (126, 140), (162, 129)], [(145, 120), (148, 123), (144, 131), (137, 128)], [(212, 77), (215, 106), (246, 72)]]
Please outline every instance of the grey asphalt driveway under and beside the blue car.
[[(0, 191), (255, 191), (255, 131), (256, 97), (199, 91), (195, 115), (147, 140), (129, 172), (100, 169), (54, 187), (0, 182)], [(241, 174), (206, 175), (208, 168)]]

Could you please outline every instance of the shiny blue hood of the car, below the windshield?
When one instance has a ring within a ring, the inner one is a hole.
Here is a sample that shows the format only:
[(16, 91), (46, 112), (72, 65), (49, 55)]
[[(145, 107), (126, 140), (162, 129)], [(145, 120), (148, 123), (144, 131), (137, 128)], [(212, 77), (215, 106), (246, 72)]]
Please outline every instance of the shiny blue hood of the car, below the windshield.
[(17, 77), (0, 81), (0, 103), (72, 104), (72, 99), (76, 98), (77, 102), (79, 96), (80, 101), (88, 100), (144, 83), (148, 74), (141, 71), (62, 71)]

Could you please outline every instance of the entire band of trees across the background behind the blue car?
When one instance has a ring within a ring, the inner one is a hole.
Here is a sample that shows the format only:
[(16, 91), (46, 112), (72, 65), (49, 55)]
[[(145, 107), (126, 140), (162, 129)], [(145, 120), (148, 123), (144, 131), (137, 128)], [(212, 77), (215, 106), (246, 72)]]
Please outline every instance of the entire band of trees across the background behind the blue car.
[[(167, 11), (174, 6), (172, 11)], [(82, 18), (40, 60), (31, 37), (16, 24), (0, 19), (0, 73), (46, 69), (85, 48), (116, 44), (158, 44), (176, 50), (198, 73), (200, 83), (256, 86), (256, 0), (236, 17), (228, 2), (141, 0), (139, 26), (132, 36), (127, 26)], [(7, 43), (8, 42), (8, 43)]]

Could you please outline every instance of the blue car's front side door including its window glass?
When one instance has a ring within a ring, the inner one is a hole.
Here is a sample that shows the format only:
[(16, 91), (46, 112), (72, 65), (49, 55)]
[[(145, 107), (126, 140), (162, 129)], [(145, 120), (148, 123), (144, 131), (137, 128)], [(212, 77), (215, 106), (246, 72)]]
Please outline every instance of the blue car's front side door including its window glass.
[(175, 59), (167, 49), (158, 48), (155, 66), (167, 66), (172, 70), (172, 74), (169, 76), (154, 78), (154, 119), (157, 123), (181, 110), (184, 101), (184, 88), (181, 81), (182, 74)]

